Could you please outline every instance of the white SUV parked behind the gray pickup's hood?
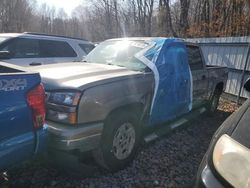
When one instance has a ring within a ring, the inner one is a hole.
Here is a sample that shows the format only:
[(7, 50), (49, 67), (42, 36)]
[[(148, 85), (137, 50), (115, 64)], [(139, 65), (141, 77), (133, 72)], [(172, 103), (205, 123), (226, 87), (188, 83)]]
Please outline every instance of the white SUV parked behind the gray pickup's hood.
[(79, 38), (39, 33), (0, 34), (0, 59), (19, 66), (82, 61), (94, 44)]

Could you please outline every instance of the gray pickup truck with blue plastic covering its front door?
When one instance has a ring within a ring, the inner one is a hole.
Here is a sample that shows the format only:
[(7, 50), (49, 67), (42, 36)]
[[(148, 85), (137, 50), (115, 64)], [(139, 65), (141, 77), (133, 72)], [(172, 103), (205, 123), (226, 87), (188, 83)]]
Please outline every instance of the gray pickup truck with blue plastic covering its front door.
[(199, 46), (179, 39), (126, 38), (99, 44), (84, 63), (32, 67), (46, 90), (49, 145), (93, 151), (109, 170), (125, 167), (141, 138), (156, 138), (215, 111), (227, 69), (207, 67)]

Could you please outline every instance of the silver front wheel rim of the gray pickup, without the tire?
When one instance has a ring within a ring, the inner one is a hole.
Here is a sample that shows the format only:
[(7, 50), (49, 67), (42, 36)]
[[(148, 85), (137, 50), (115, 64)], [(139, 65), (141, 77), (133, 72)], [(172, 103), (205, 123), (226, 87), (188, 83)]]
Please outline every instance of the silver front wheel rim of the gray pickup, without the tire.
[(135, 129), (131, 123), (122, 124), (115, 132), (112, 151), (114, 156), (123, 160), (132, 152), (135, 146)]

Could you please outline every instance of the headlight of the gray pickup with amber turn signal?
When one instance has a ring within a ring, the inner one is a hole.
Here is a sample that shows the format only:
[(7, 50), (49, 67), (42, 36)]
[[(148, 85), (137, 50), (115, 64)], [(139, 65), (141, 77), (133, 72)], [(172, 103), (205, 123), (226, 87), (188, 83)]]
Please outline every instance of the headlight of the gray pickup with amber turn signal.
[(48, 120), (66, 124), (77, 123), (77, 105), (80, 92), (51, 92), (47, 93), (47, 115)]

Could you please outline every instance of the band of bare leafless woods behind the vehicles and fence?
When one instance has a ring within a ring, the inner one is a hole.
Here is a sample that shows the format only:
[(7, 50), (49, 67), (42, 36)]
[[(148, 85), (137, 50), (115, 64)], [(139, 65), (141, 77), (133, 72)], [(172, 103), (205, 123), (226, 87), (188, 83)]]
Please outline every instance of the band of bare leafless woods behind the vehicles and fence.
[(123, 36), (250, 35), (249, 0), (93, 0), (69, 17), (36, 0), (0, 0), (0, 32), (102, 41)]

